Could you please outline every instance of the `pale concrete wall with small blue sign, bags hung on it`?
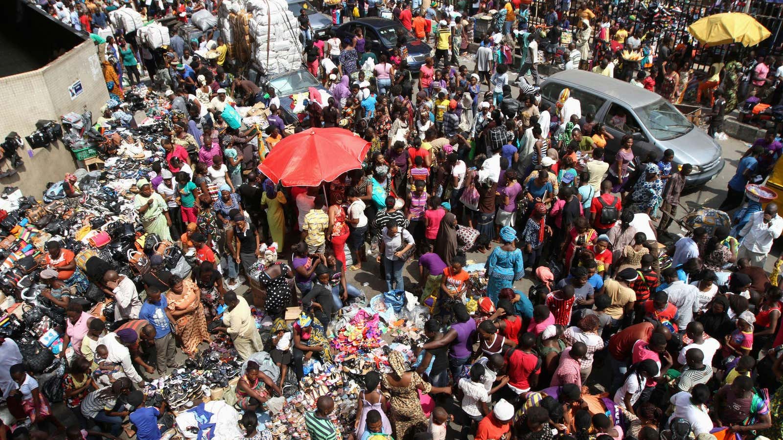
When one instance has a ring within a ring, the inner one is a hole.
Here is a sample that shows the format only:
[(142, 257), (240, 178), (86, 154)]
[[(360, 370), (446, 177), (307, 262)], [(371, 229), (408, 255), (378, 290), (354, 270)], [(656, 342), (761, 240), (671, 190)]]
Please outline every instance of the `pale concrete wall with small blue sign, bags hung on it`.
[[(81, 81), (82, 92), (71, 99), (68, 88)], [(96, 45), (84, 41), (58, 59), (23, 74), (0, 80), (0, 139), (9, 132), (21, 136), (35, 130), (40, 119), (60, 121), (63, 114), (92, 111), (93, 121), (99, 108), (109, 99)], [(2, 186), (18, 186), (26, 196), (41, 199), (47, 182), (62, 180), (67, 172), (78, 168), (74, 155), (62, 142), (32, 150), (27, 142), (17, 150), (24, 164), (19, 173), (0, 180)], [(31, 157), (32, 155), (32, 157)], [(8, 162), (2, 164), (2, 170)]]

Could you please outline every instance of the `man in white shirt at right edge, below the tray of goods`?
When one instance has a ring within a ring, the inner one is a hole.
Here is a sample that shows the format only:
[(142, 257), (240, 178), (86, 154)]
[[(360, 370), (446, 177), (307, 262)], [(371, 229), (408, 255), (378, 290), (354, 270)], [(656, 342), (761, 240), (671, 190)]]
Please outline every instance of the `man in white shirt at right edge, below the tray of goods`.
[(742, 243), (738, 258), (749, 258), (752, 265), (763, 266), (772, 249), (772, 241), (783, 232), (783, 218), (778, 215), (778, 205), (770, 203), (763, 212), (750, 215), (739, 235)]

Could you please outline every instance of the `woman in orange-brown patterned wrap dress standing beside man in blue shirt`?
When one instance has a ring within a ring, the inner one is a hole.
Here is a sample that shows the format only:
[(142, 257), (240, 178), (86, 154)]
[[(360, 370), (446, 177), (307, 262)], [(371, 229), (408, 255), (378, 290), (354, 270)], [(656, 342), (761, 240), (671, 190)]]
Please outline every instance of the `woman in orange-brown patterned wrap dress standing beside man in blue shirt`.
[(174, 334), (182, 344), (182, 352), (192, 358), (198, 345), (209, 341), (199, 287), (193, 280), (182, 280), (179, 276), (171, 276), (169, 283), (171, 290), (166, 293), (166, 312), (171, 315)]

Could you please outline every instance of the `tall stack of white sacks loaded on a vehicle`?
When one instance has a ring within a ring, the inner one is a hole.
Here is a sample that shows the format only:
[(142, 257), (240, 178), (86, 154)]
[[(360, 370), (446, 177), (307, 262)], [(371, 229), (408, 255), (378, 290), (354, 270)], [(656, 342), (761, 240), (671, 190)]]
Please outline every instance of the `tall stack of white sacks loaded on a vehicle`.
[(303, 48), (299, 41), (299, 23), (288, 10), (285, 0), (222, 2), (220, 31), (224, 38), (224, 32), (228, 31), (229, 38), (232, 32), (227, 17), (231, 12), (238, 13), (242, 9), (253, 15), (250, 20), (252, 58), (266, 69), (267, 74), (281, 74), (301, 67)]

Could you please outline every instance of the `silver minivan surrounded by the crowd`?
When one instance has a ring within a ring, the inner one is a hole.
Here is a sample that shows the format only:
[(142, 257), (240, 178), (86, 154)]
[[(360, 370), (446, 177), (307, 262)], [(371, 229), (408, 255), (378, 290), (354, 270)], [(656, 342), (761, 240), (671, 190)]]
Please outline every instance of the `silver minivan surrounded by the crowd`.
[(726, 164), (720, 145), (655, 92), (585, 70), (563, 70), (543, 81), (541, 99), (554, 109), (563, 88), (579, 99), (583, 122), (593, 114), (594, 121), (603, 123), (615, 137), (607, 140), (607, 160), (619, 150), (623, 135), (633, 135), (634, 155), (653, 152), (660, 158), (670, 148), (676, 164), (692, 164), (689, 187), (714, 179)]

